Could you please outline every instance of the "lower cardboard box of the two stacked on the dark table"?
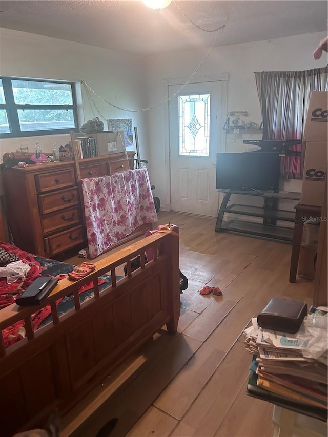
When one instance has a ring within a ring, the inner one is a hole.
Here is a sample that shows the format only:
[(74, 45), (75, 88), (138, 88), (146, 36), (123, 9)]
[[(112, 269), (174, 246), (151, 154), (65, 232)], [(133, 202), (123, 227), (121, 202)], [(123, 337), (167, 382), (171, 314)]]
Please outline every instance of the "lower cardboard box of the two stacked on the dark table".
[(327, 170), (327, 142), (306, 142), (301, 203), (322, 206)]

